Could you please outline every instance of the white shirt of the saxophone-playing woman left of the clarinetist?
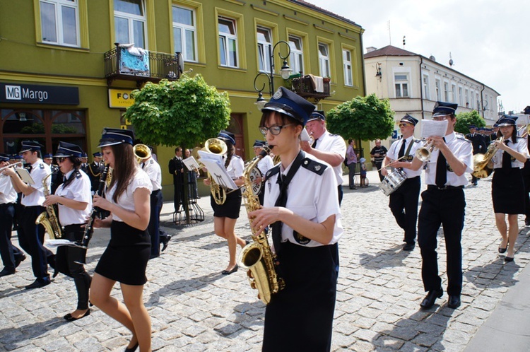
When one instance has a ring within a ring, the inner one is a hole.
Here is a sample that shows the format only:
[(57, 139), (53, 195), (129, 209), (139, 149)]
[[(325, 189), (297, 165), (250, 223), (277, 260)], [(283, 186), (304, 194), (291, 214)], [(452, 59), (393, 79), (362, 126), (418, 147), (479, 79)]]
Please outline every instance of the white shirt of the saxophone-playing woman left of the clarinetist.
[[(71, 170), (67, 172), (64, 175), (66, 177), (65, 180), (68, 180), (72, 172), (75, 171)], [(64, 196), (64, 198), (73, 199), (74, 201), (88, 203), (86, 208), (81, 211), (59, 204), (59, 222), (61, 225), (67, 226), (86, 223), (86, 219), (90, 216), (90, 211), (92, 210), (92, 192), (90, 192), (90, 189), (90, 177), (81, 170), (79, 170), (66, 188), (64, 188), (64, 182), (57, 187), (55, 190), (57, 196)]]

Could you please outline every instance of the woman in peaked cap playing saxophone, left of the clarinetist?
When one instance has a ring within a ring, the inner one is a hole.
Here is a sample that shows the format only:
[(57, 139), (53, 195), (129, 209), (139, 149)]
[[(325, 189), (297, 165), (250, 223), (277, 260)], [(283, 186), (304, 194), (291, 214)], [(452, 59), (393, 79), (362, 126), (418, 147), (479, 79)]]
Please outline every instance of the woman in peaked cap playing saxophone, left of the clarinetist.
[[(90, 179), (81, 172), (81, 147), (72, 143), (59, 142), (54, 158), (57, 158), (64, 181), (57, 187), (55, 194), (46, 197), (44, 206), (59, 204), (59, 223), (63, 227), (62, 239), (80, 242), (83, 239), (86, 219), (92, 209)], [(85, 271), (83, 262), (86, 249), (80, 247), (59, 246), (55, 255), (55, 268), (62, 274), (73, 278), (77, 290), (77, 308), (64, 316), (71, 322), (90, 315), (88, 309), (88, 289), (90, 275)]]

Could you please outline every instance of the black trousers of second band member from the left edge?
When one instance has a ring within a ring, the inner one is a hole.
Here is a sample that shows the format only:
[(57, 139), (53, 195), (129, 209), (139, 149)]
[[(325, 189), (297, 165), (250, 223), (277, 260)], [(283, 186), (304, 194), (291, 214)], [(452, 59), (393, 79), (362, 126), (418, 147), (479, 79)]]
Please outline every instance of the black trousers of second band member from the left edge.
[(24, 206), (20, 216), (18, 243), (31, 256), (33, 275), (38, 281), (49, 281), (48, 263), (54, 266), (54, 254), (44, 247), (45, 228), (36, 225), (37, 216), (46, 211), (44, 206)]

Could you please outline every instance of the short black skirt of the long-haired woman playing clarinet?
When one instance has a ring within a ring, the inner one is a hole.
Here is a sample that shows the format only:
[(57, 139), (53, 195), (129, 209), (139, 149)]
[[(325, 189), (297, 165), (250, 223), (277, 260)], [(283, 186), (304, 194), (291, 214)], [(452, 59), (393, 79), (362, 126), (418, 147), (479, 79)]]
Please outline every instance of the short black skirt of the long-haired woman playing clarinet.
[(151, 237), (121, 221), (112, 221), (110, 242), (102, 254), (95, 272), (126, 285), (147, 282), (146, 268), (151, 257)]

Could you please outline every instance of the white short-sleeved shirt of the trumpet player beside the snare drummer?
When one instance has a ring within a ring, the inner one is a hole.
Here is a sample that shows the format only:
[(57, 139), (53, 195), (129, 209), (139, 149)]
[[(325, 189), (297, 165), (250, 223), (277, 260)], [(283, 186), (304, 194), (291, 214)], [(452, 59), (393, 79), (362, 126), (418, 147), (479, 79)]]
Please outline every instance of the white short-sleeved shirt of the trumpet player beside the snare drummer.
[[(454, 132), (448, 134), (444, 138), (445, 143), (454, 156), (466, 165), (466, 171), (461, 176), (457, 176), (454, 172), (448, 170), (449, 164), (447, 164), (447, 182), (445, 185), (454, 187), (466, 186), (466, 184), (468, 184), (466, 172), (473, 172), (473, 146), (471, 145), (471, 141), (464, 138), (462, 135), (457, 136)], [(425, 162), (427, 163), (427, 168), (425, 168), (426, 184), (436, 184), (436, 161), (439, 153), (440, 150), (436, 148), (435, 151), (430, 153), (430, 160)]]

